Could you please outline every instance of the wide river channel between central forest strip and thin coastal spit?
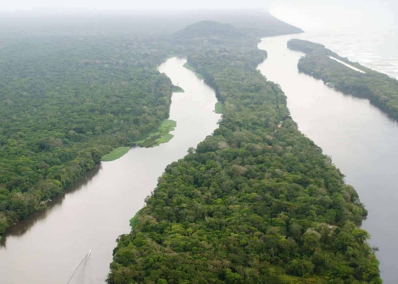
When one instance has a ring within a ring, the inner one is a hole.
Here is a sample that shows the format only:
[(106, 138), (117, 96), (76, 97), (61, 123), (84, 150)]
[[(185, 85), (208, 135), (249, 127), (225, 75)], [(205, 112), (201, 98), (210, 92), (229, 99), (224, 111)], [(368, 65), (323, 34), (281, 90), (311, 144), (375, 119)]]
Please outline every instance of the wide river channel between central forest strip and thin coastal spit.
[(302, 133), (332, 156), (357, 190), (368, 217), (362, 228), (377, 246), (380, 272), (385, 284), (398, 283), (398, 123), (367, 99), (344, 95), (297, 70), (304, 54), (289, 50), (286, 43), (297, 36), (262, 39), (258, 48), (268, 57), (258, 69), (278, 83), (287, 96), (293, 120)]

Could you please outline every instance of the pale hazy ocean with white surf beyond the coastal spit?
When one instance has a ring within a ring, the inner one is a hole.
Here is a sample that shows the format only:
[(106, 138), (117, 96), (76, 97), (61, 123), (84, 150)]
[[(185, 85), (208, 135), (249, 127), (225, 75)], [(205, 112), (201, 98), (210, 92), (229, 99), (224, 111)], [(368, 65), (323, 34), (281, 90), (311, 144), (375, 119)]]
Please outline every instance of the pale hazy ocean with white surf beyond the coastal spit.
[(398, 4), (346, 1), (270, 8), (305, 32), (295, 37), (324, 44), (340, 56), (398, 79)]

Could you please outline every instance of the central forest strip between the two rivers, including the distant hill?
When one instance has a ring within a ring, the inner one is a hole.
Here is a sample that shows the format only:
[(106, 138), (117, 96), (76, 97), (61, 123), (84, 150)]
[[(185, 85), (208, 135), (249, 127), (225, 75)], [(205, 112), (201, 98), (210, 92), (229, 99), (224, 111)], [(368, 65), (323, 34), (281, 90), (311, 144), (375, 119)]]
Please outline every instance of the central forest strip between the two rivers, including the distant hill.
[(170, 43), (217, 91), (223, 117), (166, 168), (117, 239), (107, 282), (381, 283), (357, 227), (367, 211), (256, 70), (258, 38), (204, 21)]

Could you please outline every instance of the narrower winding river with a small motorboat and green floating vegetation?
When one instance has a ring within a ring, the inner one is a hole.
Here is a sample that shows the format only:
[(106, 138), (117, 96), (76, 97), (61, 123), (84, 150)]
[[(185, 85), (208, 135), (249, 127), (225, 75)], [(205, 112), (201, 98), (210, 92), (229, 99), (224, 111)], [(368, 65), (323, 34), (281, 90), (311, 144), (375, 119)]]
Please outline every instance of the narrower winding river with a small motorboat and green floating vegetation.
[(215, 91), (183, 68), (185, 59), (170, 58), (159, 66), (185, 93), (173, 93), (170, 119), (177, 127), (168, 142), (153, 148), (132, 148), (112, 162), (103, 162), (57, 196), (49, 209), (21, 220), (0, 245), (1, 283), (66, 283), (92, 250), (84, 274), (72, 283), (104, 283), (116, 238), (130, 231), (129, 219), (171, 162), (216, 129)]

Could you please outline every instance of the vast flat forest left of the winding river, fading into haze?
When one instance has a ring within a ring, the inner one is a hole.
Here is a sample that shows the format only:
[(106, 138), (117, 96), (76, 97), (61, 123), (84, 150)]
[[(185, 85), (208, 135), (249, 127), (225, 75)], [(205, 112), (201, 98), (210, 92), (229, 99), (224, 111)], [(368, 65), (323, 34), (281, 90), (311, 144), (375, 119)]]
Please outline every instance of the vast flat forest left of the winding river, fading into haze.
[(105, 160), (171, 139), (172, 85), (156, 70), (174, 50), (164, 35), (214, 18), (301, 32), (255, 11), (2, 15), (0, 234), (112, 149)]

